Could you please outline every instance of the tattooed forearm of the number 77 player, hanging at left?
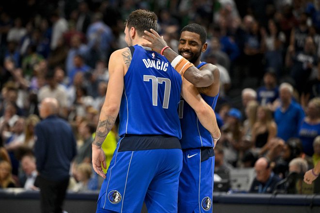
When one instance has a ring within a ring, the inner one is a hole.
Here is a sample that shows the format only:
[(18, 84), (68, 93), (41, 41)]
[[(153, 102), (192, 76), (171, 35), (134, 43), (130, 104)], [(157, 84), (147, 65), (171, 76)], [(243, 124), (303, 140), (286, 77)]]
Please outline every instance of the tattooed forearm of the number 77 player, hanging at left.
[(98, 126), (96, 127), (96, 137), (93, 140), (92, 144), (101, 147), (103, 141), (106, 139), (108, 133), (112, 129), (112, 126), (117, 117), (107, 116), (106, 120), (99, 120)]

